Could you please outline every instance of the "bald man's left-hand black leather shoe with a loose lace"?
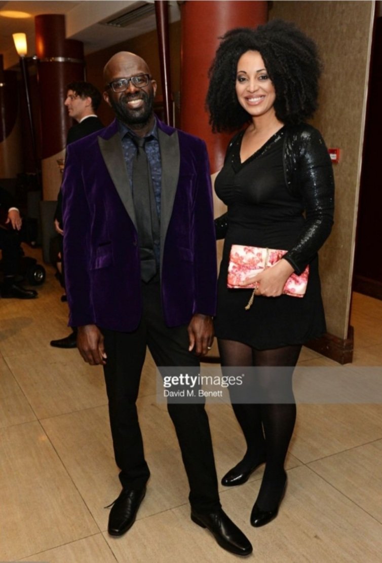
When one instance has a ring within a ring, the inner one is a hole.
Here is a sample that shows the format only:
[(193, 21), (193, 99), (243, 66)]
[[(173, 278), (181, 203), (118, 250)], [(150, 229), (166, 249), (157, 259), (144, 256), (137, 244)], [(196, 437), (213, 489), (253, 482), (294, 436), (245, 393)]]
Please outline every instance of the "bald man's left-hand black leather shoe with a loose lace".
[(123, 535), (131, 528), (145, 494), (146, 486), (141, 489), (122, 490), (110, 511), (109, 525), (107, 526), (110, 535)]

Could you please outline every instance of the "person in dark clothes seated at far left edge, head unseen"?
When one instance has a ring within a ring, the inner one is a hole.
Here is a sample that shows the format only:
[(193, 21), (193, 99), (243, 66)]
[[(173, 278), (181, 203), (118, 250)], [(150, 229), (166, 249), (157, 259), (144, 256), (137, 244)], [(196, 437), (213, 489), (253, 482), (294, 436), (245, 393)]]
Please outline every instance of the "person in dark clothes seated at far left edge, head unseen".
[(20, 256), (23, 254), (19, 236), (22, 225), (20, 211), (14, 206), (11, 194), (0, 187), (0, 249), (4, 274), (0, 293), (3, 298), (34, 299), (37, 297), (37, 291), (34, 289), (25, 289), (16, 283)]

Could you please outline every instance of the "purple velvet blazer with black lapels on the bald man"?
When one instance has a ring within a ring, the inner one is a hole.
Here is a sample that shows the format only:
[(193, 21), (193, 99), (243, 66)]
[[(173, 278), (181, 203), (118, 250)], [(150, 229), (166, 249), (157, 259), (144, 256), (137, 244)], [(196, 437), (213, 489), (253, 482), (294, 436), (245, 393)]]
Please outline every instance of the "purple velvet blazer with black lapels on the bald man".
[[(215, 314), (216, 245), (204, 141), (158, 121), (161, 300), (169, 327)], [(137, 328), (140, 252), (116, 120), (68, 146), (62, 183), (69, 325)]]

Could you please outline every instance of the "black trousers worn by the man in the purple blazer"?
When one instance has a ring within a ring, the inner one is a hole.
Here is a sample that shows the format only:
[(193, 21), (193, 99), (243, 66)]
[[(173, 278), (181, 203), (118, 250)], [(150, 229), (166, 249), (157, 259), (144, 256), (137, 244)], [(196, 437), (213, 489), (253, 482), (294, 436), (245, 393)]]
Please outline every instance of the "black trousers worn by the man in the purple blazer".
[[(146, 346), (158, 366), (199, 366), (188, 352), (187, 326), (168, 328), (160, 303), (159, 276), (142, 283), (143, 314), (131, 333), (102, 329), (104, 367), (115, 461), (124, 488), (142, 486), (150, 471), (143, 452), (136, 400)], [(220, 508), (217, 475), (204, 404), (168, 404), (190, 485), (190, 503), (197, 512)]]

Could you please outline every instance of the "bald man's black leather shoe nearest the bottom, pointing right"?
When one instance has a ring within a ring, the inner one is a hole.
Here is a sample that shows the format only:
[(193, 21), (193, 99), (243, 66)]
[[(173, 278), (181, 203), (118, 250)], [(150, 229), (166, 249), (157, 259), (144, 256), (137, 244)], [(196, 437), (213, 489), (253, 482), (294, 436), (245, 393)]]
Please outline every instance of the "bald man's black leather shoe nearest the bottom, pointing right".
[(191, 520), (201, 528), (208, 529), (223, 549), (236, 555), (252, 553), (249, 539), (237, 528), (236, 524), (233, 524), (222, 508), (210, 514), (199, 514), (191, 511)]

